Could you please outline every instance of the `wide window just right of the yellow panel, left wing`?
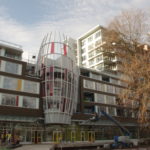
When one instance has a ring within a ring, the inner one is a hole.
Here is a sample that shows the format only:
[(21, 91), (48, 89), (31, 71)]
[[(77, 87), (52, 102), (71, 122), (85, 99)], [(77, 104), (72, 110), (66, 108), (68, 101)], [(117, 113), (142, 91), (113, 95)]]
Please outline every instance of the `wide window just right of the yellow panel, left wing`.
[(39, 93), (39, 83), (24, 80), (24, 92)]

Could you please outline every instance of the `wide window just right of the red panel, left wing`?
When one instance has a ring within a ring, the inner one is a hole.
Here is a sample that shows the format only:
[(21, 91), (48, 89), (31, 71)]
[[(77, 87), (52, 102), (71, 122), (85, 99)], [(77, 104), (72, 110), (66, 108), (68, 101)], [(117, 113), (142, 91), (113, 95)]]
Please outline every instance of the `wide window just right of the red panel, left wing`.
[(25, 107), (25, 108), (36, 109), (36, 108), (38, 108), (38, 103), (39, 103), (39, 99), (38, 98), (24, 96), (23, 97), (23, 105), (22, 106)]

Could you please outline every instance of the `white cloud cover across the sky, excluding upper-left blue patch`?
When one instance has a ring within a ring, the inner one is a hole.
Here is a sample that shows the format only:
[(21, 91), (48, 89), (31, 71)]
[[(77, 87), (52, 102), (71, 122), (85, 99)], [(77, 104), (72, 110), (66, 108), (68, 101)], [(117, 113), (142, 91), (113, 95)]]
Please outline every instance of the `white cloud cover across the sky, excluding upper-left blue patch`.
[[(47, 32), (58, 30), (77, 38), (97, 24), (106, 25), (122, 9), (148, 9), (147, 0), (42, 0), (43, 21), (24, 25), (0, 7), (0, 39), (23, 46), (26, 52), (37, 53)], [(52, 9), (52, 11), (50, 11)], [(30, 16), (29, 16), (30, 17)]]

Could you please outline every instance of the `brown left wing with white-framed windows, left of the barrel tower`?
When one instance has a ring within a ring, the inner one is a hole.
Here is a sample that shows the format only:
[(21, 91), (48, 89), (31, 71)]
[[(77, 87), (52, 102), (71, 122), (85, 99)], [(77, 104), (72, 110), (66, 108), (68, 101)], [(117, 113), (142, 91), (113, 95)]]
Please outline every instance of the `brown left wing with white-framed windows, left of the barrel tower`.
[(22, 53), (21, 46), (0, 41), (0, 133), (15, 130), (35, 141), (35, 122), (43, 117), (40, 78), (28, 74)]

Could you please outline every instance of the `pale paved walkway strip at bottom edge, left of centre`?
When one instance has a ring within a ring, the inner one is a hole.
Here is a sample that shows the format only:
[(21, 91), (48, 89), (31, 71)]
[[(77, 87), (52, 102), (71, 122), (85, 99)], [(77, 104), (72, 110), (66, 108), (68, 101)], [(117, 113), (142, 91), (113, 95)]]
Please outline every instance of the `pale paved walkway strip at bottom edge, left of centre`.
[(21, 147), (15, 148), (15, 150), (53, 150), (53, 146), (50, 144), (23, 145)]

